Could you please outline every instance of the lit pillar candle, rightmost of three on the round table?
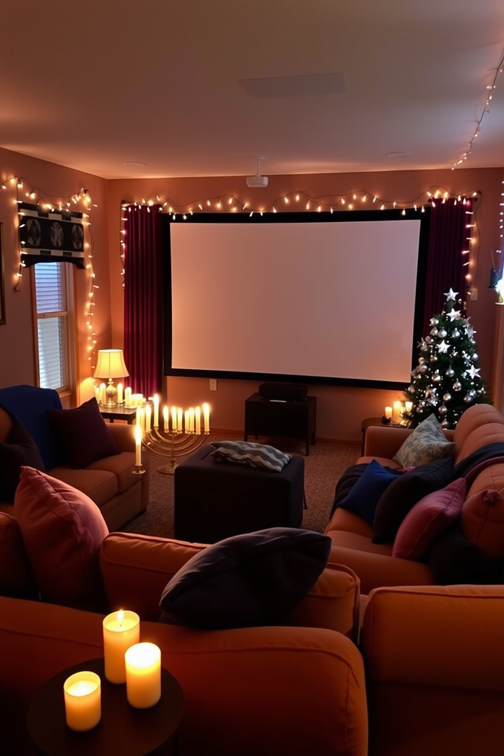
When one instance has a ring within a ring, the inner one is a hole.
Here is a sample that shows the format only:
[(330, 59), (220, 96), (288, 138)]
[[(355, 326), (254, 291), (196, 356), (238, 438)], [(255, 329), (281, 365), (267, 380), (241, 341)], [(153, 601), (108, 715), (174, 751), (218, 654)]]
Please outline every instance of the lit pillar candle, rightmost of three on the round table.
[(161, 698), (161, 650), (137, 643), (125, 652), (126, 696), (135, 708), (149, 708)]

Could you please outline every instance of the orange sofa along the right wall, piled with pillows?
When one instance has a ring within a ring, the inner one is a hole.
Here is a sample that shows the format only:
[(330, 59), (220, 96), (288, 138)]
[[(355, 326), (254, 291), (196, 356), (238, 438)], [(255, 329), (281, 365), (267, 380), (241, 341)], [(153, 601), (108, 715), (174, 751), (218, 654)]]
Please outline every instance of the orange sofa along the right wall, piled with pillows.
[[(357, 465), (367, 465), (377, 460), (380, 465), (391, 469), (400, 469), (401, 465), (394, 460), (394, 455), (401, 445), (413, 433), (411, 429), (402, 427), (373, 426), (366, 430), (363, 457), (357, 460)], [(499, 559), (494, 559), (489, 570), (494, 579), (487, 582), (504, 582), (502, 572), (502, 554), (504, 554), (504, 510), (502, 497), (504, 496), (504, 417), (490, 404), (475, 404), (462, 414), (459, 423), (452, 431), (445, 431), (447, 440), (453, 442), (453, 464), (456, 470), (467, 474), (466, 498), (484, 491), (496, 491), (499, 502), (495, 507), (488, 508), (485, 528), (487, 535), (496, 541)], [(499, 451), (502, 446), (502, 451)], [(490, 450), (486, 461), (481, 462), (481, 469), (476, 469), (478, 460), (483, 459), (484, 450)], [(490, 459), (495, 461), (490, 463)], [(472, 471), (465, 462), (475, 460)], [(493, 513), (492, 513), (493, 509)], [(337, 507), (326, 527), (326, 534), (332, 540), (332, 554), (330, 561), (348, 565), (360, 578), (361, 593), (367, 594), (376, 587), (394, 585), (431, 585), (435, 583), (431, 563), (428, 559), (419, 561), (401, 559), (392, 556), (394, 541), (385, 543), (373, 541), (376, 531), (373, 525), (353, 511)], [(458, 581), (456, 581), (458, 582)], [(473, 582), (463, 580), (462, 582)]]

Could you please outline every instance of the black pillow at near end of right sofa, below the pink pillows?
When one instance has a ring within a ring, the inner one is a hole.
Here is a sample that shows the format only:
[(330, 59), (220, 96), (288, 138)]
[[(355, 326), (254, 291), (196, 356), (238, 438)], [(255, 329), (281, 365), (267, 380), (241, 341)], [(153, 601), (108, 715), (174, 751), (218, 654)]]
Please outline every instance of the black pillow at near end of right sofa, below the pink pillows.
[(456, 522), (434, 541), (428, 553), (437, 585), (495, 585), (502, 583), (502, 564), (489, 559), (462, 534)]

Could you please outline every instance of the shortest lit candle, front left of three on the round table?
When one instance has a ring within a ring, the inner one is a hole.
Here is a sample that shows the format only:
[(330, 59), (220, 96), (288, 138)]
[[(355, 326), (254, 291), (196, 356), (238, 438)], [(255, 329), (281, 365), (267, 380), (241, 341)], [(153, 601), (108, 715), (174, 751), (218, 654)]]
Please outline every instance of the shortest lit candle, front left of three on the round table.
[(94, 672), (76, 672), (63, 683), (66, 724), (84, 732), (96, 727), (101, 718), (100, 677)]

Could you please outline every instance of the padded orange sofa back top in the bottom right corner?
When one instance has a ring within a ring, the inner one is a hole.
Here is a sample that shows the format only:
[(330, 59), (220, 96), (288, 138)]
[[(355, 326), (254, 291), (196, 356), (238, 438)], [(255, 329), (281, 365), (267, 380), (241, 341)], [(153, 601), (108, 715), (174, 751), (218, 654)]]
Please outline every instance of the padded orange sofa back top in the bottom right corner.
[(363, 615), (371, 680), (504, 692), (504, 586), (377, 588)]

